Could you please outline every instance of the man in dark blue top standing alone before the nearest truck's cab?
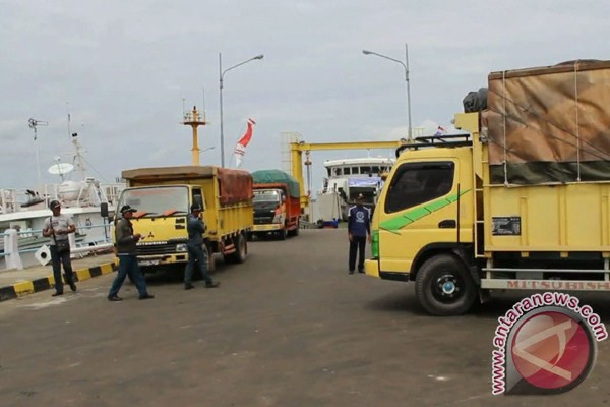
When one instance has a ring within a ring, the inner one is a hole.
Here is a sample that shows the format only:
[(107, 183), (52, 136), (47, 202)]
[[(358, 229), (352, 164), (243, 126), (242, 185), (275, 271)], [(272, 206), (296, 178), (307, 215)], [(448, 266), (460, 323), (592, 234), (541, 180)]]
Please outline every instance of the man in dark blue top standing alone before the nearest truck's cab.
[(364, 207), (364, 196), (358, 195), (356, 206), (350, 208), (348, 215), (347, 232), (350, 238), (350, 274), (354, 273), (356, 267), (356, 250), (358, 251), (358, 272), (364, 273), (364, 248), (371, 241), (371, 210)]

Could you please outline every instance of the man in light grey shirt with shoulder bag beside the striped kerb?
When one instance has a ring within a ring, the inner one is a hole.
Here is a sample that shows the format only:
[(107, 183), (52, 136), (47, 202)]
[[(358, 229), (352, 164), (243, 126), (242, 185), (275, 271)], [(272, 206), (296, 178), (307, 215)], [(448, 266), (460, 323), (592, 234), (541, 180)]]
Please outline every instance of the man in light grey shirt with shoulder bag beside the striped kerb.
[(68, 234), (76, 231), (74, 221), (68, 215), (62, 215), (62, 205), (59, 201), (51, 201), (49, 209), (53, 212), (52, 216), (46, 218), (42, 227), (42, 236), (50, 237), (49, 250), (51, 251), (51, 264), (53, 266), (53, 278), (55, 279), (55, 294), (63, 294), (62, 268), (66, 276), (66, 283), (70, 286), (73, 292), (76, 292), (76, 284), (74, 284), (74, 276), (72, 273), (72, 262), (70, 260), (70, 241)]

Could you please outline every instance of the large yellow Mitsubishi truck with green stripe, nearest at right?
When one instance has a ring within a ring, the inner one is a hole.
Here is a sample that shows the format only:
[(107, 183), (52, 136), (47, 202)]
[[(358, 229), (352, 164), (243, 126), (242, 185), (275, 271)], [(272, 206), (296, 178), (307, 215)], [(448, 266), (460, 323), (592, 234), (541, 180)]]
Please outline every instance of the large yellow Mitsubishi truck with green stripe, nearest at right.
[(610, 290), (608, 77), (609, 62), (491, 73), (454, 118), (468, 134), (398, 148), (366, 273), (414, 281), (434, 315), (493, 290)]

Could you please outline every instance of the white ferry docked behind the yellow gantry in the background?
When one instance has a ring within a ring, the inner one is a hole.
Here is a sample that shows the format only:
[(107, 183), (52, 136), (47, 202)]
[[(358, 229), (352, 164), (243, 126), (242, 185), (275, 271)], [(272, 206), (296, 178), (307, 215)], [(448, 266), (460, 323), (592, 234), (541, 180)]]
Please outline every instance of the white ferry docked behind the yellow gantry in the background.
[(312, 205), (312, 222), (347, 220), (350, 207), (360, 194), (365, 206), (374, 210), (383, 185), (381, 175), (389, 172), (395, 162), (385, 157), (326, 160), (326, 178)]

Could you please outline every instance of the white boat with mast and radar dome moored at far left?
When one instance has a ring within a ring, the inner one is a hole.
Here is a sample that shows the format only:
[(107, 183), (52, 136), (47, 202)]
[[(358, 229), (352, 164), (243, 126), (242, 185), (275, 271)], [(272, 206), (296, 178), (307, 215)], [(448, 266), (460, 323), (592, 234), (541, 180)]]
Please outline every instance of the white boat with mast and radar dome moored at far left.
[[(47, 244), (49, 238), (41, 234), (45, 220), (52, 214), (48, 209), (52, 200), (60, 201), (62, 214), (74, 218), (77, 227), (76, 245), (93, 246), (107, 242), (110, 237), (110, 226), (102, 217), (101, 208), (107, 206), (112, 214), (118, 195), (124, 189), (122, 182), (102, 184), (86, 176), (83, 149), (79, 145), (78, 135), (72, 136), (75, 148), (74, 165), (58, 163), (49, 168), (50, 173), (61, 176), (59, 184), (45, 184), (40, 190), (0, 189), (0, 234), (7, 229), (19, 232), (19, 248), (24, 267), (37, 264), (34, 251)], [(81, 175), (78, 181), (71, 181), (66, 175), (76, 167)], [(4, 251), (4, 239), (0, 239), (0, 253)], [(4, 256), (0, 258), (0, 270), (5, 268)]]

